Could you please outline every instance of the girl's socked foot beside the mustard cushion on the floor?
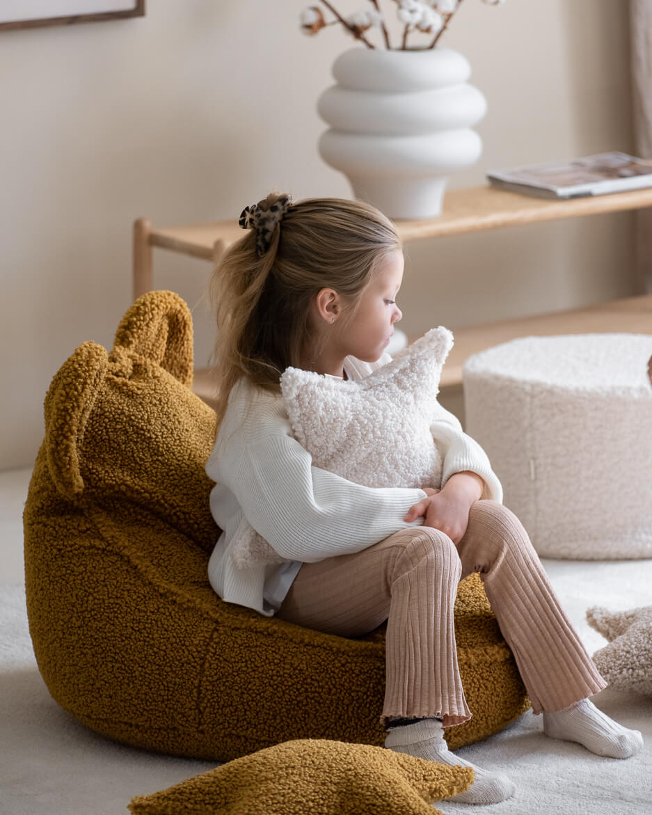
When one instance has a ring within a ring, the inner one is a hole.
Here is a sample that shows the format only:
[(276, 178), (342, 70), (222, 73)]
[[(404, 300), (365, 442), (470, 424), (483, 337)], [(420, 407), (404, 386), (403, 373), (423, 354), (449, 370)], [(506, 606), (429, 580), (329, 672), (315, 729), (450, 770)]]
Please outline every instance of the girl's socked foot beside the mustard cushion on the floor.
[(442, 723), (438, 719), (417, 719), (412, 725), (390, 728), (385, 747), (418, 759), (473, 769), (473, 784), (451, 799), (460, 804), (499, 804), (511, 798), (516, 789), (507, 776), (489, 773), (452, 753), (443, 738)]

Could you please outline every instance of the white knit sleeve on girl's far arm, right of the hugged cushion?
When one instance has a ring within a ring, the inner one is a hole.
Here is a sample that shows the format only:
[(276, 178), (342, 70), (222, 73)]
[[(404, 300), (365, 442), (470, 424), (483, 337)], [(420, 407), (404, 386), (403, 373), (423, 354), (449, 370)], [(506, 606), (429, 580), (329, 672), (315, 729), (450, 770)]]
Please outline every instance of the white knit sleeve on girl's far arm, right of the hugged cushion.
[(503, 487), (491, 469), (487, 453), (462, 430), (460, 421), (440, 404), (430, 425), (434, 442), (442, 456), (442, 487), (452, 475), (470, 470), (484, 481), (482, 499), (502, 503)]

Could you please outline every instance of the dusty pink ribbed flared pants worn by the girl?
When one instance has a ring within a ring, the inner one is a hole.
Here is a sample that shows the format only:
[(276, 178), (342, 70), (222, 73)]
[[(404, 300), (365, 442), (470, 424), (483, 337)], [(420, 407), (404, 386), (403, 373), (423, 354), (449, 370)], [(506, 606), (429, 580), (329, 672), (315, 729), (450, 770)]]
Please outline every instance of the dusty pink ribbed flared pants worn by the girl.
[(403, 529), (362, 552), (304, 563), (280, 619), (358, 637), (385, 619), (389, 717), (439, 716), (444, 727), (471, 716), (457, 665), (457, 584), (478, 571), (535, 713), (597, 694), (597, 672), (562, 611), (518, 518), (495, 501), (472, 505), (460, 543), (436, 529)]

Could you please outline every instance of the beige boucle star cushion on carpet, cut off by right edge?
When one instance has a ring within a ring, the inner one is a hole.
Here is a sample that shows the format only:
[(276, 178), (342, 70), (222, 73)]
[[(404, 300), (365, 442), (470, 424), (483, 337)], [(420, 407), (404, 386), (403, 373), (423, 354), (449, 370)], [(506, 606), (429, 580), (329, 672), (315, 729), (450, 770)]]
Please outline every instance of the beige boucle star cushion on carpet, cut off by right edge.
[(652, 606), (613, 612), (593, 606), (586, 619), (609, 641), (593, 661), (610, 687), (652, 696)]

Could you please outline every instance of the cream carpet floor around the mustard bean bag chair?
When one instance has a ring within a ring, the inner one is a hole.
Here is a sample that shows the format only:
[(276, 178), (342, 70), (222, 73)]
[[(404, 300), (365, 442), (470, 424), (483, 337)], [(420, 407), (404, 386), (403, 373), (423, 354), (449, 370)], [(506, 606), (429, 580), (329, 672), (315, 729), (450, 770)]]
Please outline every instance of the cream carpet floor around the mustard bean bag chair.
[[(650, 605), (652, 561), (544, 564), (591, 653), (605, 642), (584, 623), (588, 606)], [(652, 698), (606, 689), (594, 701), (623, 725), (642, 731), (641, 754), (626, 761), (593, 756), (545, 738), (540, 717), (527, 713), (503, 733), (460, 751), (482, 767), (508, 773), (518, 786), (516, 797), (490, 808), (447, 801), (438, 808), (447, 815), (652, 815)], [(124, 747), (77, 724), (51, 699), (37, 671), (24, 588), (0, 586), (0, 813), (125, 813), (133, 795), (164, 789), (212, 766)]]

